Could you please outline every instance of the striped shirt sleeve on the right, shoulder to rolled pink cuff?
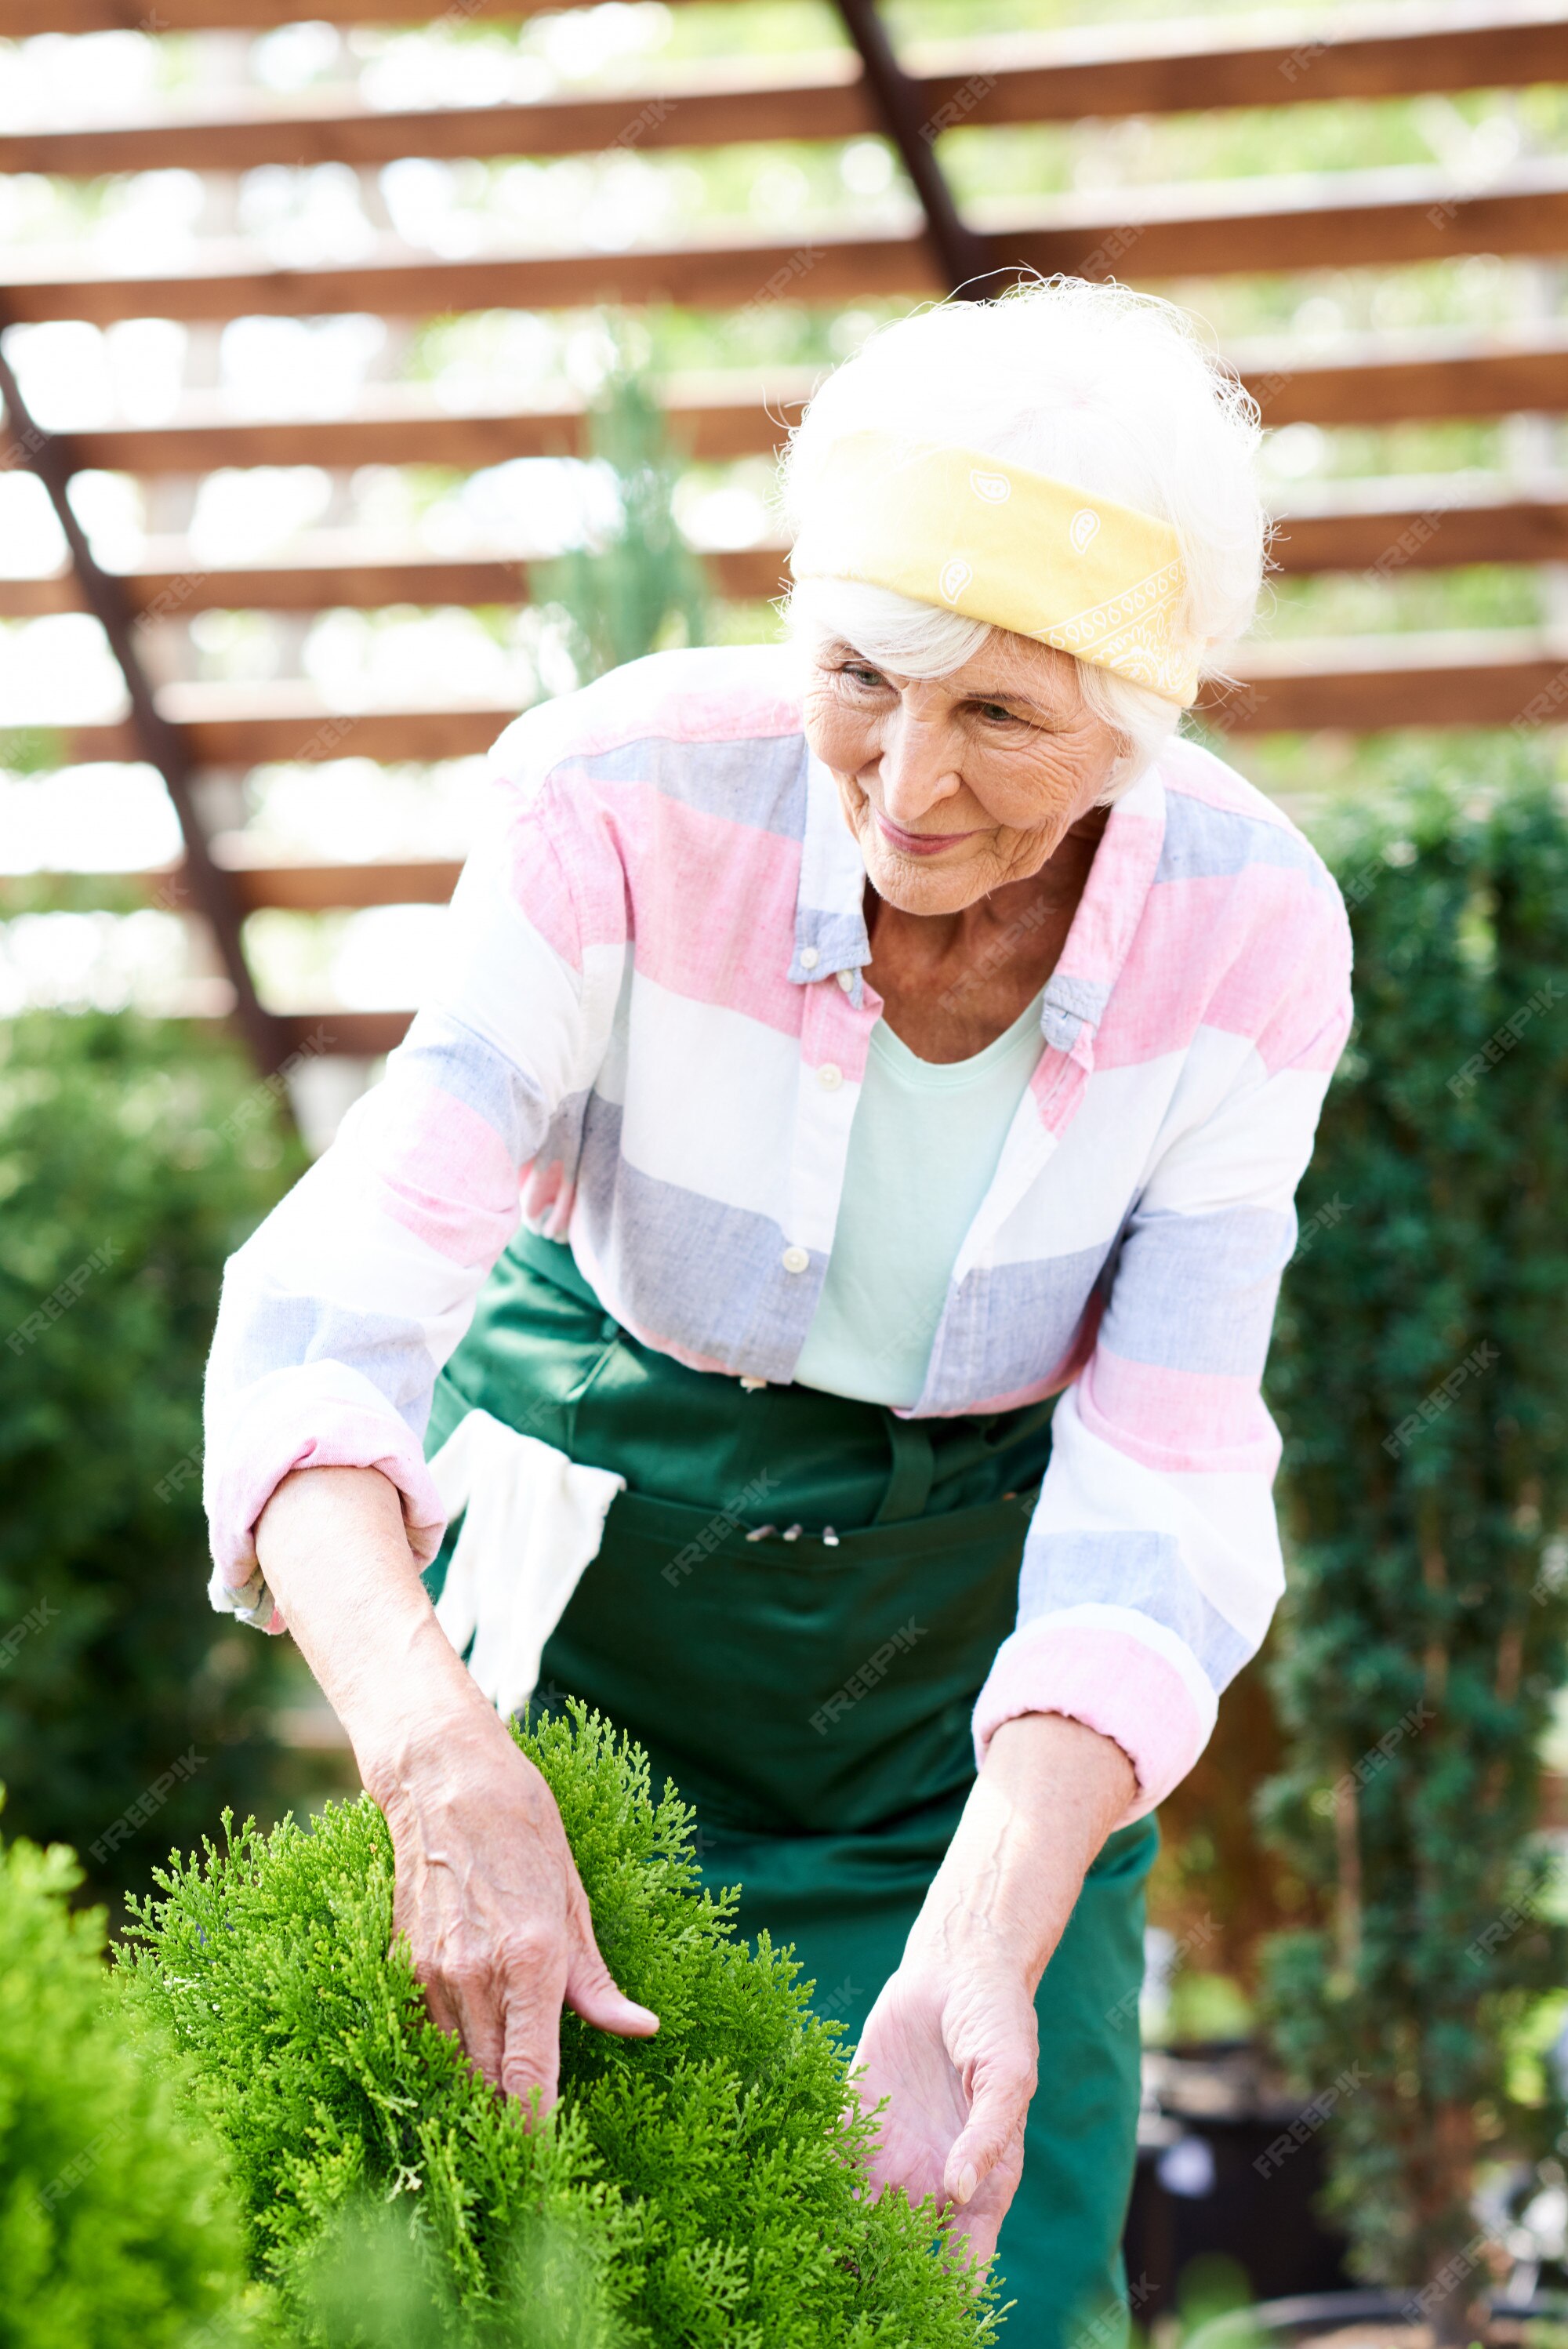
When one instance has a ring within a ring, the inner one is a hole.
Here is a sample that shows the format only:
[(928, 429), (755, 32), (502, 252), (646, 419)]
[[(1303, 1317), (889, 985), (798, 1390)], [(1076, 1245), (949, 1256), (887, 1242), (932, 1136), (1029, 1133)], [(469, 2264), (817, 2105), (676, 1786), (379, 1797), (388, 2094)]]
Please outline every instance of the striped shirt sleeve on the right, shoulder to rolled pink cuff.
[(1322, 890), (1298, 977), (1207, 1113), (1157, 1153), (1094, 1351), (1056, 1405), (1019, 1621), (974, 1710), (1066, 1712), (1131, 1759), (1141, 1818), (1192, 1769), (1284, 1588), (1261, 1379), (1293, 1193), (1350, 1031), (1350, 933)]

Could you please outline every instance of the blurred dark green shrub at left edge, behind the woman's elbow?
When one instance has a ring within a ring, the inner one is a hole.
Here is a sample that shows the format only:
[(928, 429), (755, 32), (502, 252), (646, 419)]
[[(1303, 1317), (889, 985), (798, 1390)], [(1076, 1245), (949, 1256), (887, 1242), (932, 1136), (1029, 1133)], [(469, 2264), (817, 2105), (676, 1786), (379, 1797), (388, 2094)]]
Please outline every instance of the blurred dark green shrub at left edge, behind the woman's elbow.
[(200, 1398), (223, 1259), (293, 1170), (190, 1022), (0, 1038), (0, 1778), (101, 1891), (265, 1792), (277, 1647), (202, 1595)]

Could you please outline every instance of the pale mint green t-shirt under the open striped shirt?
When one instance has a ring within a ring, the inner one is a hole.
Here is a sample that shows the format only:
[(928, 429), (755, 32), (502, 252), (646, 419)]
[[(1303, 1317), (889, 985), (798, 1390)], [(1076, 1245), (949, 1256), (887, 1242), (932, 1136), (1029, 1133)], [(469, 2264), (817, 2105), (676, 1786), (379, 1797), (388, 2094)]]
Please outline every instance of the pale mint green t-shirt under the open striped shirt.
[(800, 1386), (918, 1402), (958, 1250), (1040, 1062), (1040, 1003), (946, 1064), (918, 1059), (885, 1019), (873, 1027)]

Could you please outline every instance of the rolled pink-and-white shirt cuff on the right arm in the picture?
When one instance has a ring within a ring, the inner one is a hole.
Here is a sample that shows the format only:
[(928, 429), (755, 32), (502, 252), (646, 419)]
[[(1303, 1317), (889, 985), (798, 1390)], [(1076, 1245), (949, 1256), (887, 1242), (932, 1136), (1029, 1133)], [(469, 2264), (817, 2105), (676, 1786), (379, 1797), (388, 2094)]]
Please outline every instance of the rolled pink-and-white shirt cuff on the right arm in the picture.
[[(1091, 1616), (1120, 1621), (1084, 1621)], [(974, 1705), (976, 1769), (1002, 1722), (1021, 1712), (1066, 1712), (1122, 1748), (1138, 1778), (1117, 1820), (1129, 1828), (1197, 1762), (1214, 1729), (1216, 1696), (1164, 1626), (1124, 1607), (1070, 1607), (1002, 1640)]]

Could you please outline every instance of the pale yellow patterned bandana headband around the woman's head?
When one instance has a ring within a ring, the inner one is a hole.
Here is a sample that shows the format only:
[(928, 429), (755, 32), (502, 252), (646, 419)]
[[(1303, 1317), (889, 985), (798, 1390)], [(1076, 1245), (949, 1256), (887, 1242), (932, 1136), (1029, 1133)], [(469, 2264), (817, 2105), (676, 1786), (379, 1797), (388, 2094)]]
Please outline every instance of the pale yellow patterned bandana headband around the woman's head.
[(1188, 709), (1185, 571), (1169, 521), (974, 449), (850, 432), (812, 484), (798, 580), (864, 580), (1054, 644)]

